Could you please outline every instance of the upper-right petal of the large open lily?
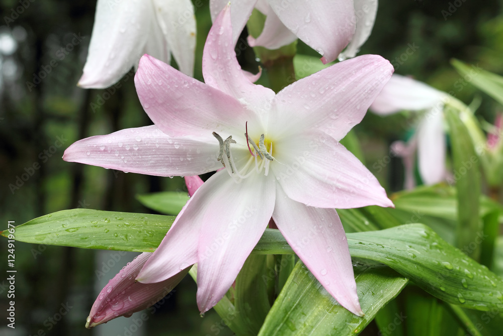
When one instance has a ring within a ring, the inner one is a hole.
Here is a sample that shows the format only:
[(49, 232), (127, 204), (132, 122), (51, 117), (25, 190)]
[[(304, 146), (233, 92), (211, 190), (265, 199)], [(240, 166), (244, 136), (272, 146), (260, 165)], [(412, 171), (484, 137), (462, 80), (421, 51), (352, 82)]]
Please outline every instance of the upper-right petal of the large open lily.
[(393, 66), (363, 55), (329, 66), (281, 90), (273, 100), (271, 126), (281, 134), (315, 127), (341, 140), (359, 123), (387, 83)]

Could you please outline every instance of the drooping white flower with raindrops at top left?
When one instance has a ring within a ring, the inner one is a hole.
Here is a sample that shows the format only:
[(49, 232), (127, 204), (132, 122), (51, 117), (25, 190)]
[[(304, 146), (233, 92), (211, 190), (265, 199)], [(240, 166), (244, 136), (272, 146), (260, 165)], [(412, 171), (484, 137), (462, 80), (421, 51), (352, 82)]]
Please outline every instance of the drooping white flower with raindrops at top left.
[(190, 0), (98, 0), (82, 88), (107, 88), (124, 76), (144, 53), (194, 73), (196, 21)]

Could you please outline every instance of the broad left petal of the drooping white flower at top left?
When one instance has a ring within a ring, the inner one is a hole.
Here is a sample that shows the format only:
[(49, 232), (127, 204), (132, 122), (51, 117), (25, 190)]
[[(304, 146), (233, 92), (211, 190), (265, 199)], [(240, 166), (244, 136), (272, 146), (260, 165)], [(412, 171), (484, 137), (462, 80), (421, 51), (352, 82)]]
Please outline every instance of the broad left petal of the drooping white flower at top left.
[(150, 1), (124, 0), (114, 6), (98, 1), (80, 87), (107, 88), (132, 68), (147, 41), (153, 11)]

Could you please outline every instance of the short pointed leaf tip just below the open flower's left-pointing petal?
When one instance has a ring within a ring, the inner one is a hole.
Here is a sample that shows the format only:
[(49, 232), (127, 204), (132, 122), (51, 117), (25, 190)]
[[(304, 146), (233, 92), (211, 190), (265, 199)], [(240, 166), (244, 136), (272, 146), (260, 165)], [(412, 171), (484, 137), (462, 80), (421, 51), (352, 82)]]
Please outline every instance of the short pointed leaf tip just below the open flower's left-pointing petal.
[(163, 191), (136, 195), (145, 207), (161, 214), (177, 216), (189, 200), (187, 192)]

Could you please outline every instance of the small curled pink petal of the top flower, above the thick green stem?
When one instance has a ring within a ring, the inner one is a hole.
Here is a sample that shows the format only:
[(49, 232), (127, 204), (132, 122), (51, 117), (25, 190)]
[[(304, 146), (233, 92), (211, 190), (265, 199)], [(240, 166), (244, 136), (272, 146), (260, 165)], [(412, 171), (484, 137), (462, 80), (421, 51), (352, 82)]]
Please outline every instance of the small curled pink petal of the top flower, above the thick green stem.
[(253, 38), (251, 35), (248, 36), (248, 44), (251, 47), (262, 46), (268, 49), (278, 49), (297, 39), (297, 35), (285, 27), (272, 9), (269, 8), (266, 15), (264, 29), (260, 36), (257, 38)]

